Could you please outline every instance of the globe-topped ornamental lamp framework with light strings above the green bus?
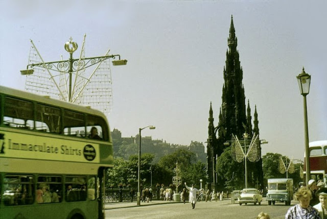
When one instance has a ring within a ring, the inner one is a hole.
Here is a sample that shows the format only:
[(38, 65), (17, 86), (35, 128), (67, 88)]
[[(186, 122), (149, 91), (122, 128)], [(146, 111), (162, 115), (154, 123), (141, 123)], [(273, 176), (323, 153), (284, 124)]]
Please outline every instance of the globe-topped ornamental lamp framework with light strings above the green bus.
[[(32, 93), (49, 96), (67, 102), (97, 108), (108, 115), (112, 106), (112, 80), (109, 59), (113, 65), (126, 65), (127, 60), (121, 60), (119, 54), (85, 58), (84, 35), (78, 59), (73, 59), (73, 53), (78, 45), (70, 38), (64, 45), (69, 52), (69, 59), (54, 62), (44, 62), (31, 40), (29, 63), (27, 70), (20, 71), (26, 75), (25, 89)], [(118, 60), (115, 58), (118, 57)]]

